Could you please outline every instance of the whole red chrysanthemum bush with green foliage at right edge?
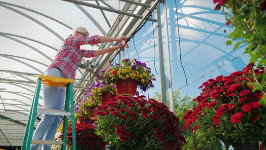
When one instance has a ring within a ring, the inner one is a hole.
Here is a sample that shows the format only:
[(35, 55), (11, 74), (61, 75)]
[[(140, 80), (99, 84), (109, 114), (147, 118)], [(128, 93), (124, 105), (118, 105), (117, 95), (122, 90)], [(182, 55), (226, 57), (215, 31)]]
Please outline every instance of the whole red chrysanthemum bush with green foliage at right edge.
[(235, 150), (239, 142), (258, 147), (258, 141), (266, 141), (266, 108), (259, 105), (263, 92), (251, 86), (252, 73), (264, 74), (264, 67), (252, 67), (204, 82), (200, 96), (194, 99), (199, 105), (183, 117), (184, 129), (204, 134), (206, 140), (221, 140)]

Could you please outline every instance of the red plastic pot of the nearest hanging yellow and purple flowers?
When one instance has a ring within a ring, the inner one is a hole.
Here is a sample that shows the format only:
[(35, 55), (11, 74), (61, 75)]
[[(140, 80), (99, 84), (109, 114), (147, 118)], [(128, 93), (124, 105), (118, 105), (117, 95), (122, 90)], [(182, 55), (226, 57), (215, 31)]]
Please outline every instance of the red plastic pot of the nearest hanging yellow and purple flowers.
[(134, 79), (120, 79), (115, 81), (115, 87), (116, 95), (133, 97), (136, 95), (137, 81)]

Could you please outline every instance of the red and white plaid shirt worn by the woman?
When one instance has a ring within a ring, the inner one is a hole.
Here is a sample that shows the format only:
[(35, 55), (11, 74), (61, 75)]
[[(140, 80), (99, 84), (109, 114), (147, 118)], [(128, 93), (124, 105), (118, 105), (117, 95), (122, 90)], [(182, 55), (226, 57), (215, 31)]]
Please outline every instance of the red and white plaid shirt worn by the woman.
[(94, 57), (96, 53), (95, 50), (80, 49), (80, 45), (98, 43), (100, 43), (99, 36), (67, 37), (63, 45), (60, 46), (54, 61), (46, 72), (53, 67), (58, 67), (66, 78), (74, 79), (77, 71), (77, 64), (81, 62), (82, 57)]

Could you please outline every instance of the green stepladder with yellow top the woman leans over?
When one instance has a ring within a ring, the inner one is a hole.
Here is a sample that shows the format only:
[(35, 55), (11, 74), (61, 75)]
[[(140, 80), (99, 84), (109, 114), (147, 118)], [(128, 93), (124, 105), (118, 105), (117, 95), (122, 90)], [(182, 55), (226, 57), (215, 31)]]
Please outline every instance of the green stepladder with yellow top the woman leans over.
[[(65, 110), (50, 110), (50, 109), (37, 109), (40, 87), (41, 84), (46, 84), (50, 86), (64, 86), (66, 87), (66, 101)], [(75, 133), (75, 117), (74, 117), (74, 102), (73, 102), (73, 80), (66, 79), (55, 76), (39, 75), (36, 81), (36, 88), (33, 97), (33, 103), (31, 107), (31, 112), (29, 114), (29, 119), (22, 143), (21, 150), (30, 150), (31, 144), (46, 144), (46, 145), (62, 145), (63, 150), (66, 150), (66, 136), (67, 136), (67, 119), (71, 120), (72, 124), (72, 145), (73, 150), (76, 150), (76, 133)], [(69, 101), (71, 105), (71, 112), (69, 112)], [(32, 140), (33, 139), (33, 127), (36, 118), (36, 113), (50, 114), (50, 115), (60, 115), (64, 119), (63, 124), (63, 141), (43, 141), (43, 140)], [(69, 117), (71, 115), (71, 118)]]

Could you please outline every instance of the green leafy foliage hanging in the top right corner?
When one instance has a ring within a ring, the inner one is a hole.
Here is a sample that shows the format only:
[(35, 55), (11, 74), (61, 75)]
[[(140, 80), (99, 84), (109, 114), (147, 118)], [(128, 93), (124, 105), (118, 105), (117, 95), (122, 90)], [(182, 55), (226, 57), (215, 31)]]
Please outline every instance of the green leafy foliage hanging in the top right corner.
[[(231, 45), (231, 40), (240, 40), (234, 45), (233, 50), (237, 49), (242, 43), (248, 44), (244, 53), (250, 55), (250, 62), (258, 62), (258, 68), (265, 66), (266, 0), (224, 0), (224, 2), (219, 2), (215, 9), (219, 10), (221, 6), (230, 11), (230, 13), (224, 12), (224, 14), (226, 20), (234, 27), (233, 32), (228, 36), (230, 40), (226, 41), (226, 44)], [(265, 78), (266, 74), (260, 76), (258, 80)], [(256, 81), (253, 82), (253, 86), (260, 86), (264, 94), (266, 93), (265, 84), (265, 81), (263, 85), (259, 85)], [(266, 95), (264, 95), (260, 104), (266, 104)]]

